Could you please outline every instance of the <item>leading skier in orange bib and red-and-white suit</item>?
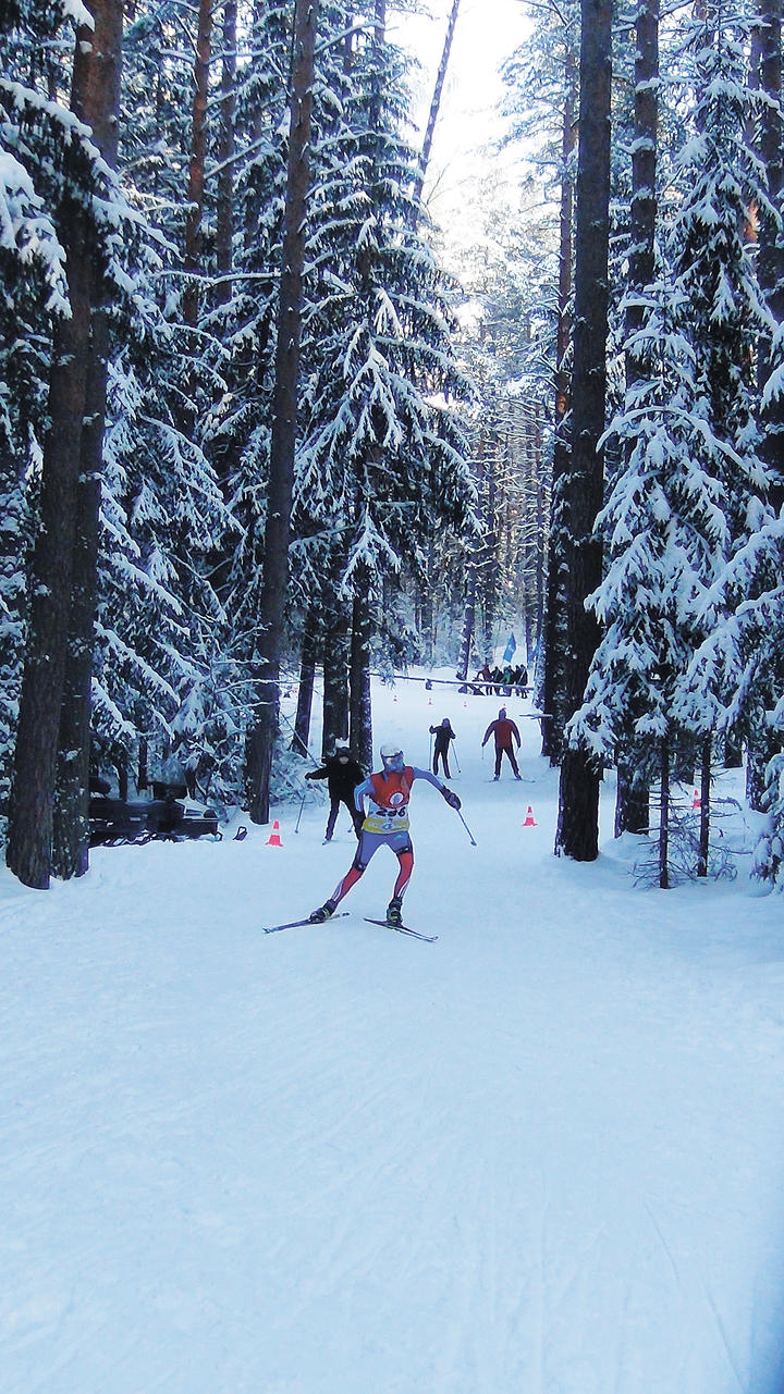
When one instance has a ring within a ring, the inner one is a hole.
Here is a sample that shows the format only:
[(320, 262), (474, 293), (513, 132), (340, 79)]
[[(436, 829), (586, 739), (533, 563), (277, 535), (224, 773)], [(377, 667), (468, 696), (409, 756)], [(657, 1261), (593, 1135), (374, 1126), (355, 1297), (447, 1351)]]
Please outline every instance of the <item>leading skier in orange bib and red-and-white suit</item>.
[[(354, 789), (354, 803), (364, 815), (357, 855), (329, 899), (318, 910), (312, 912), (311, 920), (317, 924), (335, 914), (343, 896), (360, 880), (370, 864), (370, 859), (382, 846), (391, 848), (400, 863), (392, 899), (386, 907), (389, 924), (400, 924), (403, 920), (403, 895), (406, 894), (414, 866), (414, 849), (409, 832), (409, 799), (414, 779), (427, 779), (428, 783), (435, 785), (451, 809), (460, 807), (458, 795), (452, 789), (446, 789), (435, 775), (431, 775), (430, 769), (417, 769), (414, 765), (407, 765), (399, 746), (382, 746), (381, 764), (382, 769), (370, 775), (364, 783), (357, 785)], [(365, 799), (368, 800), (367, 809)]]

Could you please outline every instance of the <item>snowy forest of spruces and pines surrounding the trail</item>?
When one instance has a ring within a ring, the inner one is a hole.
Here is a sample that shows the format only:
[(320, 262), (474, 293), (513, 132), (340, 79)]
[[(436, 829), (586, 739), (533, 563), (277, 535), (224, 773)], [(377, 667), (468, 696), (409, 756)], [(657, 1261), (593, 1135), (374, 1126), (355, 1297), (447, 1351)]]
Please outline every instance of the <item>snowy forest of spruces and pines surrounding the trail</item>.
[(370, 763), (371, 671), (465, 679), (508, 622), (558, 850), (597, 855), (612, 763), (667, 885), (696, 769), (706, 875), (711, 772), (745, 758), (778, 878), (780, 4), (526, 6), (520, 194), (488, 166), (459, 262), (423, 190), (460, 6), (424, 141), (407, 8), (3, 11), (0, 809), (27, 885), (86, 870), (91, 772), (123, 795), (176, 760), (265, 822), (317, 665), (324, 750)]

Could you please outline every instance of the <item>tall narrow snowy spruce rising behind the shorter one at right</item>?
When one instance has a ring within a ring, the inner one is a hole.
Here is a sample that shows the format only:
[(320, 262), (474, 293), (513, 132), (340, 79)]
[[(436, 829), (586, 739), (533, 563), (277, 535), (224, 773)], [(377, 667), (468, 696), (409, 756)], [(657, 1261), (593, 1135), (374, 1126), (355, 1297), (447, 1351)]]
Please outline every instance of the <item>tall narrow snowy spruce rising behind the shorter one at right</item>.
[[(703, 436), (703, 459), (721, 485), (727, 520), (721, 552), (707, 573), (699, 573), (702, 623), (713, 643), (742, 599), (723, 579), (723, 569), (763, 524), (773, 482), (759, 450), (755, 374), (757, 346), (771, 319), (748, 237), (748, 210), (756, 208), (766, 219), (776, 210), (764, 166), (746, 139), (760, 106), (745, 82), (746, 21), (720, 6), (707, 7), (695, 25), (692, 50), (696, 131), (681, 158), (689, 194), (672, 224), (670, 255), (689, 300), (692, 344), (699, 353), (693, 410), (713, 438)], [(735, 740), (744, 732), (720, 719), (727, 697), (709, 645), (704, 661), (700, 657), (692, 665), (677, 715), (698, 736), (718, 729), (727, 742)]]

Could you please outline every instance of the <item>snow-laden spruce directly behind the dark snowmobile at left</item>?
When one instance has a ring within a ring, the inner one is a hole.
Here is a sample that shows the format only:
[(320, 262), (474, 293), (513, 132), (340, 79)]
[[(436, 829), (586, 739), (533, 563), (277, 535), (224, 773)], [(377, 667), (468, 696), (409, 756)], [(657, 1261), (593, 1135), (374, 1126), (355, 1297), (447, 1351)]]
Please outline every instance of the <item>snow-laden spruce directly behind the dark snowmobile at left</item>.
[(183, 435), (174, 403), (166, 408), (158, 395), (176, 371), (177, 335), (167, 335), (153, 301), (142, 315), (140, 296), (137, 308), (110, 376), (96, 761), (133, 764), (142, 742), (155, 774), (160, 753), (176, 749), (194, 793), (227, 804), (241, 790), (240, 742), (229, 751), (227, 732), (244, 693), (212, 567), (239, 534), (204, 452)]

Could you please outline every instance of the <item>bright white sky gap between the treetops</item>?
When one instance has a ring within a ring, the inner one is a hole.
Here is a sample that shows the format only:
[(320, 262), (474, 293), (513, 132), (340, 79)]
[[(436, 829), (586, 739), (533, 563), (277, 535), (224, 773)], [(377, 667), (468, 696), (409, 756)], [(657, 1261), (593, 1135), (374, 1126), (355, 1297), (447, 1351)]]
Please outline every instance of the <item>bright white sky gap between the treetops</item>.
[[(389, 38), (421, 63), (417, 95), (423, 130), (452, 0), (431, 0), (428, 8), (431, 18), (395, 15), (389, 21)], [(522, 43), (527, 25), (522, 0), (462, 0), (425, 185), (428, 206), (439, 222), (465, 208), (472, 184), (487, 173), (487, 145), (502, 130), (497, 105), (505, 89), (498, 70)]]

